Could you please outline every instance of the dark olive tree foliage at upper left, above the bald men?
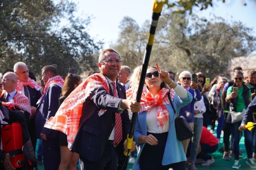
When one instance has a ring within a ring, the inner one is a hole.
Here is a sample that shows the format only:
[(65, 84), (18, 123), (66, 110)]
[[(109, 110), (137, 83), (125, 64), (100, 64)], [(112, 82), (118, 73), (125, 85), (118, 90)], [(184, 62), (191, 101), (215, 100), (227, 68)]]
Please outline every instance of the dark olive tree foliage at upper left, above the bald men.
[(0, 71), (22, 61), (36, 75), (45, 65), (56, 64), (59, 74), (96, 65), (94, 54), (102, 42), (87, 33), (90, 16), (74, 17), (75, 3), (68, 0), (0, 1)]

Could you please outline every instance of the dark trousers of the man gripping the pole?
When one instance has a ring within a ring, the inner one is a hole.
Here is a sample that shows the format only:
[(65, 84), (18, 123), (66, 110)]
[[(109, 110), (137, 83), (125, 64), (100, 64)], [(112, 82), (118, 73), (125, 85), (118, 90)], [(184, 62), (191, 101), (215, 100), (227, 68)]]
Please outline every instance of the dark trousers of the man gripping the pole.
[(89, 161), (80, 156), (81, 170), (116, 170), (118, 165), (118, 154), (113, 144), (107, 144), (105, 151), (99, 161)]

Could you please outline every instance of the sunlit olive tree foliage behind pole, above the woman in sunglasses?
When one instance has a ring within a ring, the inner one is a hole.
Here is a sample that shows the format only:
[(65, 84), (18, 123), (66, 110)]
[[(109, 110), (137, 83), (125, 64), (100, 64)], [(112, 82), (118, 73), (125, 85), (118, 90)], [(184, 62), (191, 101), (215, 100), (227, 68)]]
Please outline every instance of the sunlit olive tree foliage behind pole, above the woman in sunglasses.
[[(126, 30), (120, 30), (122, 34), (119, 39), (129, 42), (130, 38), (123, 36), (126, 35)], [(144, 24), (137, 30), (143, 31), (130, 33), (130, 37), (136, 39), (137, 35), (144, 35), (149, 31), (149, 25)], [(195, 14), (173, 14), (170, 10), (163, 10), (155, 33), (149, 65), (154, 66), (155, 62), (158, 62), (161, 69), (177, 74), (184, 70), (192, 73), (201, 71), (213, 78), (225, 72), (232, 57), (246, 56), (256, 49), (256, 38), (252, 36), (252, 31), (241, 22), (228, 23), (220, 17), (207, 21)], [(141, 57), (146, 42), (145, 39), (141, 43), (139, 39), (136, 40), (137, 44), (141, 44), (142, 52), (133, 56)], [(133, 47), (134, 43), (127, 43), (125, 46), (131, 51), (134, 50)], [(136, 60), (125, 55), (123, 58), (128, 61)], [(142, 61), (135, 64), (127, 62), (131, 68), (141, 63)]]

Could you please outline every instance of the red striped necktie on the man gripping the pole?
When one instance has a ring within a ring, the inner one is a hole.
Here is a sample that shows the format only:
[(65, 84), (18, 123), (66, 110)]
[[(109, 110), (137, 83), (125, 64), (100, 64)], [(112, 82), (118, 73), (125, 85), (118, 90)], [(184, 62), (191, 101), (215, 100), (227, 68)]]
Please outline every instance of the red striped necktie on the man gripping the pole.
[[(113, 94), (114, 97), (118, 97), (117, 91), (116, 91), (116, 83), (112, 82), (113, 85)], [(122, 132), (122, 120), (119, 113), (116, 113), (116, 122), (115, 122), (115, 139), (114, 139), (114, 147), (116, 147), (119, 142), (123, 138), (123, 132)]]

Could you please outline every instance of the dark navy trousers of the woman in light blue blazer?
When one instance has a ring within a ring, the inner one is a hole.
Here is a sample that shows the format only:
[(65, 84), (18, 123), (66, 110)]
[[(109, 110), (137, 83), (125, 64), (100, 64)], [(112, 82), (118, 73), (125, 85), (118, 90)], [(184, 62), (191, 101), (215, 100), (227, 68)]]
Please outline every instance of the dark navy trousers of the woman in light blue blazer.
[(168, 132), (165, 133), (148, 133), (152, 134), (158, 140), (158, 145), (145, 144), (140, 155), (140, 169), (141, 170), (185, 170), (185, 161), (177, 162), (169, 165), (162, 165), (163, 153), (168, 137)]

